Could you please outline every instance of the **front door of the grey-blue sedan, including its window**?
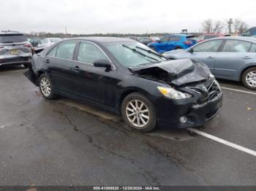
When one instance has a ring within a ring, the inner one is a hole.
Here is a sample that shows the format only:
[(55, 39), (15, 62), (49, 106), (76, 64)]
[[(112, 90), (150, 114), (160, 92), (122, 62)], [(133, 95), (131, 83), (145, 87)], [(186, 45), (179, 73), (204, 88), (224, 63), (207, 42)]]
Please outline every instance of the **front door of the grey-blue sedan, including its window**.
[(193, 51), (190, 52), (189, 58), (205, 63), (214, 74), (214, 64), (222, 42), (221, 39), (218, 39), (197, 44), (192, 48)]

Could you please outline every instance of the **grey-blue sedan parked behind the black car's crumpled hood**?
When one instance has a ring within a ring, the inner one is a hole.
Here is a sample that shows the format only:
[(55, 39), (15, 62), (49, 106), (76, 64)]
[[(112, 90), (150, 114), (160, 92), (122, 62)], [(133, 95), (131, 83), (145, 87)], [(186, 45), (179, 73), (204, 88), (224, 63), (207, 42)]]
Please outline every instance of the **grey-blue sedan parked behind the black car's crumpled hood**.
[(256, 90), (256, 39), (227, 36), (210, 39), (187, 50), (173, 50), (163, 54), (170, 60), (191, 58), (206, 63), (219, 79), (241, 81)]

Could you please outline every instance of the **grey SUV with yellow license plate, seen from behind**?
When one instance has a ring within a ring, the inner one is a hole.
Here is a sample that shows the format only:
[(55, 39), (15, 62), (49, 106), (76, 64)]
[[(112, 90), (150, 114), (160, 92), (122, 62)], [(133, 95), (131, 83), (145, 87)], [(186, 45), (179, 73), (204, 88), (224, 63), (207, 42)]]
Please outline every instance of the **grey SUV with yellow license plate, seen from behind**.
[(12, 31), (0, 32), (0, 66), (31, 63), (32, 46), (23, 34)]

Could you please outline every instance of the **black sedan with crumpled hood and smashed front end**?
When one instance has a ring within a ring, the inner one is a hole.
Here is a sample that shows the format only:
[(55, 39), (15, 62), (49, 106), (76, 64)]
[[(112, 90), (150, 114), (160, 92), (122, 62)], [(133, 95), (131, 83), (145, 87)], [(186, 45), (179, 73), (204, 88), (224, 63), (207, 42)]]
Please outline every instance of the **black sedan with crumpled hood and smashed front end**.
[(64, 95), (121, 114), (129, 128), (189, 128), (215, 117), (222, 90), (203, 63), (167, 61), (131, 39), (66, 39), (25, 73), (42, 95)]

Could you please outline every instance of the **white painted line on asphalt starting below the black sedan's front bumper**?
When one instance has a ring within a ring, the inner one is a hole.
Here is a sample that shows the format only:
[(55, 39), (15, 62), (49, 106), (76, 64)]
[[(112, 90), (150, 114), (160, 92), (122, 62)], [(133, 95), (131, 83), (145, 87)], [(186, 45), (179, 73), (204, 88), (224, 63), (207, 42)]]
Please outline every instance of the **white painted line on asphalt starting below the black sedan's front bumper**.
[(217, 136), (212, 136), (212, 135), (210, 135), (210, 134), (208, 134), (208, 133), (204, 133), (203, 131), (196, 130), (196, 129), (194, 129), (194, 128), (188, 128), (188, 130), (191, 130), (192, 132), (197, 133), (197, 134), (200, 135), (200, 136), (205, 136), (205, 137), (208, 138), (208, 139), (212, 139), (212, 140), (217, 141), (217, 142), (219, 142), (219, 143), (221, 143), (221, 144), (225, 144), (225, 145), (227, 145), (228, 147), (233, 147), (234, 149), (238, 149), (238, 150), (240, 150), (240, 151), (242, 151), (242, 152), (246, 152), (246, 153), (248, 153), (249, 155), (253, 155), (253, 156), (256, 157), (256, 152), (255, 152), (254, 150), (252, 150), (252, 149), (247, 149), (247, 148), (245, 148), (245, 147), (241, 147), (241, 146), (238, 145), (238, 144), (233, 144), (233, 143), (231, 143), (230, 141), (225, 141), (224, 139), (220, 139), (220, 138), (218, 138)]

